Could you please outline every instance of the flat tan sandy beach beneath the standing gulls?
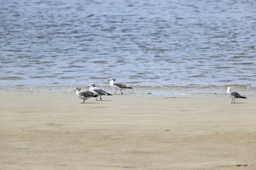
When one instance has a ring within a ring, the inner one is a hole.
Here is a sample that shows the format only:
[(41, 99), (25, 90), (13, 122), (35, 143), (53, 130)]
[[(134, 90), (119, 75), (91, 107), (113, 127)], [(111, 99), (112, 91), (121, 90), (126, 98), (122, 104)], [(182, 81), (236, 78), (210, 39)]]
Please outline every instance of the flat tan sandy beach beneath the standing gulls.
[(256, 169), (256, 96), (0, 92), (1, 169)]

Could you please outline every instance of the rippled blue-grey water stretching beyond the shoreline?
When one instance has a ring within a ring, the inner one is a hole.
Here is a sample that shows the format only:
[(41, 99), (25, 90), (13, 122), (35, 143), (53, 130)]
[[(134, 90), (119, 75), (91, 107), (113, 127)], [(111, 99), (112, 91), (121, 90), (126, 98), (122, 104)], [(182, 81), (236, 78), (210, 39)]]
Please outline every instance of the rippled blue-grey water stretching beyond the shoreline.
[(0, 86), (256, 87), (255, 0), (0, 0)]

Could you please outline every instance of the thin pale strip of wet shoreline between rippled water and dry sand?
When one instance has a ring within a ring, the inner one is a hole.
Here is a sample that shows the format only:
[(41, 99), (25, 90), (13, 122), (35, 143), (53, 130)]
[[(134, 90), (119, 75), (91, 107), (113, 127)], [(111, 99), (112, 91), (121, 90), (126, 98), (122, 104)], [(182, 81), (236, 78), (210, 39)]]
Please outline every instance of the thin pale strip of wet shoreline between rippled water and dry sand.
[[(246, 96), (256, 95), (256, 87), (248, 85), (230, 85), (233, 90), (243, 93)], [(86, 86), (47, 86), (47, 85), (15, 85), (15, 86), (1, 86), (0, 92), (4, 91), (20, 91), (20, 92), (68, 92), (72, 93), (77, 87), (87, 88)], [(132, 90), (124, 89), (125, 93), (129, 94), (152, 94), (156, 96), (177, 96), (190, 95), (200, 93), (223, 94), (226, 93), (227, 85), (225, 86), (134, 86)], [(109, 93), (113, 93), (114, 89), (110, 86), (102, 86), (102, 88)]]

